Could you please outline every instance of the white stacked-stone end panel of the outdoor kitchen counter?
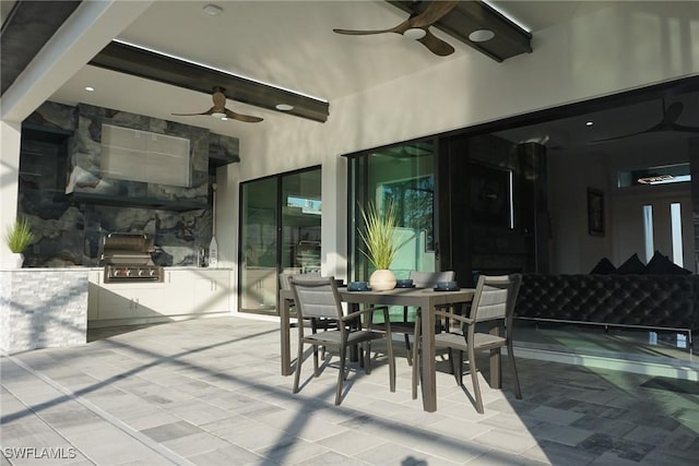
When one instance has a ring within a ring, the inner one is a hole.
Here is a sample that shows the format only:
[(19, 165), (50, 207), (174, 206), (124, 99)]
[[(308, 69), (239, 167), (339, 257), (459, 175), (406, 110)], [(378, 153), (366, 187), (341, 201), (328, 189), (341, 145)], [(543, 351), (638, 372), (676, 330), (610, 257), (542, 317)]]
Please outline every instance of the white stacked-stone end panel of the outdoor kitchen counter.
[(87, 272), (0, 271), (0, 349), (13, 354), (86, 343)]

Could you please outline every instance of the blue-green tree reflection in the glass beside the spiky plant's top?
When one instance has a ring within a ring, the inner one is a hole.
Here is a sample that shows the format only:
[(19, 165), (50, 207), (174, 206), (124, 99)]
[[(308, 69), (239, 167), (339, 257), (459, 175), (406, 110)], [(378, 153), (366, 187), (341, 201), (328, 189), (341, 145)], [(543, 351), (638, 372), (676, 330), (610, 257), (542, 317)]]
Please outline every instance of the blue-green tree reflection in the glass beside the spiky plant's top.
[(399, 226), (424, 230), (425, 246), (428, 251), (434, 251), (434, 177), (386, 183), (381, 188), (383, 200), (393, 200), (399, 207)]

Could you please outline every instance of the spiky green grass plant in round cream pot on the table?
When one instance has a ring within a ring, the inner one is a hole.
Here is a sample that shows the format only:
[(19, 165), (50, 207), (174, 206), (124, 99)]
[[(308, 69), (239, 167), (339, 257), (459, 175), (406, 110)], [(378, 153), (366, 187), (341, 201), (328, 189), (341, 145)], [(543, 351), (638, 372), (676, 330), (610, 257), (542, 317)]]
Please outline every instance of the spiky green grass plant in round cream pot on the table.
[(393, 289), (395, 275), (389, 267), (399, 249), (393, 238), (398, 207), (393, 202), (387, 202), (383, 211), (379, 211), (376, 204), (369, 203), (366, 210), (362, 208), (362, 218), (365, 229), (359, 230), (359, 236), (366, 246), (366, 251), (362, 252), (376, 267), (369, 277), (369, 286), (378, 291)]

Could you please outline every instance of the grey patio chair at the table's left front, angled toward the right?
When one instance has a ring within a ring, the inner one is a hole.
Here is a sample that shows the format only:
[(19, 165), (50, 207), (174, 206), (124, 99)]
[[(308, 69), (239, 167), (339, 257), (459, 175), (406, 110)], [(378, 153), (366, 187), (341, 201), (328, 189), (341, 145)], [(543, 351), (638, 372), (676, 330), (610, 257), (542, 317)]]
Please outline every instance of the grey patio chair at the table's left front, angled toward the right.
[(335, 405), (342, 402), (342, 385), (345, 380), (345, 359), (347, 347), (359, 345), (359, 360), (363, 353), (366, 354), (364, 369), (367, 374), (371, 373), (371, 350), (370, 342), (383, 338), (386, 340), (387, 354), (389, 358), (389, 386), (391, 392), (395, 392), (395, 359), (393, 357), (393, 345), (391, 343), (391, 325), (388, 321), (388, 309), (383, 311), (387, 322), (383, 332), (362, 328), (354, 325), (357, 318), (374, 312), (374, 309), (345, 314), (342, 309), (340, 294), (334, 277), (318, 277), (316, 279), (291, 278), (292, 290), (296, 303), (296, 312), (299, 323), (304, 320), (312, 319), (335, 319), (339, 322), (337, 328), (328, 330), (321, 333), (304, 333), (304, 325), (298, 325), (298, 358), (296, 362), (296, 373), (294, 374), (294, 393), (298, 393), (298, 384), (304, 362), (304, 345), (313, 347), (313, 375), (318, 377), (318, 347), (335, 347), (340, 351), (340, 372), (337, 374), (337, 389), (335, 392)]

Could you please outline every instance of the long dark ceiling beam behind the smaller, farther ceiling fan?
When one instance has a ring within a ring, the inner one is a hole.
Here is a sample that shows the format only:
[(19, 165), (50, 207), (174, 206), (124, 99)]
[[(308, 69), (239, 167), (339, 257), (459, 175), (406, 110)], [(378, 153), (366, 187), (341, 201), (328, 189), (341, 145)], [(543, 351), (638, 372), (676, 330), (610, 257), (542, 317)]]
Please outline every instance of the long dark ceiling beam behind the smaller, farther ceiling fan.
[[(329, 116), (325, 100), (119, 41), (111, 41), (88, 64), (209, 95), (223, 87), (233, 100), (313, 121), (325, 122)], [(294, 108), (282, 111), (277, 104)]]

